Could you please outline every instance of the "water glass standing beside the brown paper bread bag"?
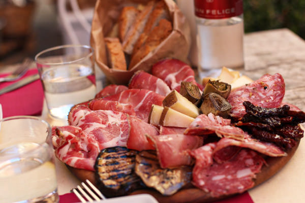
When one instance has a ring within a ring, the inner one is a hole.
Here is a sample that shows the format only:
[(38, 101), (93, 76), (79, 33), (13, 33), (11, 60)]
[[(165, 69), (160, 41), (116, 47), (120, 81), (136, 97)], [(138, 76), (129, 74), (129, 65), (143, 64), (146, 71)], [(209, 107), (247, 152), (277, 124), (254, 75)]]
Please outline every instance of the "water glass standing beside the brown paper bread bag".
[(67, 119), (71, 107), (96, 95), (94, 51), (86, 45), (63, 45), (35, 56), (49, 114)]

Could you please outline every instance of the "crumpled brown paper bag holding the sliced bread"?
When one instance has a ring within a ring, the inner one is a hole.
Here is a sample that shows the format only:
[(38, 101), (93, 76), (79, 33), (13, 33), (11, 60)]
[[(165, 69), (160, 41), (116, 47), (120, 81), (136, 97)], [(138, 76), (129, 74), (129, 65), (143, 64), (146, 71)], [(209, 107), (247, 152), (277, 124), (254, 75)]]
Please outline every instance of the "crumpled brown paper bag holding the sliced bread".
[(153, 51), (149, 52), (131, 70), (121, 71), (110, 69), (107, 64), (107, 55), (104, 37), (111, 31), (117, 22), (121, 9), (125, 6), (147, 4), (149, 0), (98, 0), (96, 3), (90, 44), (95, 50), (98, 66), (106, 77), (115, 84), (127, 84), (132, 75), (138, 70), (150, 72), (151, 66), (164, 58), (176, 58), (188, 62), (188, 53), (191, 45), (190, 28), (185, 16), (172, 0), (163, 0), (168, 7), (173, 30), (170, 35)]

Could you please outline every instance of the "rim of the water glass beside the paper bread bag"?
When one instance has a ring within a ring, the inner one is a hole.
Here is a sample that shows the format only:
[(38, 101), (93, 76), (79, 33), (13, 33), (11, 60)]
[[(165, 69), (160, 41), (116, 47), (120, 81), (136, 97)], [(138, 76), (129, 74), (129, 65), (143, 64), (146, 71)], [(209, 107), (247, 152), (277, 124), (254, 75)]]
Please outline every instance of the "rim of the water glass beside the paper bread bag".
[[(84, 57), (78, 58), (76, 60), (66, 61), (66, 62), (52, 63), (52, 62), (42, 62), (42, 61), (39, 61), (39, 57), (41, 55), (47, 53), (47, 52), (54, 51), (54, 50), (59, 50), (59, 49), (66, 49), (66, 48), (86, 48), (86, 49), (89, 49), (90, 52), (86, 56), (84, 56)], [(51, 47), (51, 48), (45, 49), (45, 50), (39, 52), (38, 54), (36, 54), (35, 55), (35, 62), (36, 63), (40, 63), (40, 64), (44, 64), (44, 65), (71, 64), (71, 63), (75, 63), (77, 61), (81, 61), (83, 59), (89, 58), (89, 57), (93, 56), (93, 54), (94, 54), (94, 49), (91, 46), (89, 46), (89, 45), (60, 45), (60, 46), (56, 46), (56, 47)]]

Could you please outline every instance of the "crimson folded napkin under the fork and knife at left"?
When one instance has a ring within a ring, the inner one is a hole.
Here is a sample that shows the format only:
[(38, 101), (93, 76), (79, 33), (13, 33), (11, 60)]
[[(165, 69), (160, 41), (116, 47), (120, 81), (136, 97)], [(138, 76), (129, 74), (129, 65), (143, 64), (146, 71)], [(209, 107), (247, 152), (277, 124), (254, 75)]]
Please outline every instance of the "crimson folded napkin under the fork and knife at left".
[[(37, 72), (38, 71), (36, 69), (29, 70), (19, 80), (34, 75)], [(6, 75), (8, 74), (0, 75), (0, 77), (4, 77)], [(0, 89), (17, 81), (0, 83)], [(43, 88), (40, 80), (34, 81), (23, 87), (2, 94), (0, 95), (0, 104), (2, 104), (3, 108), (3, 117), (5, 118), (18, 115), (38, 116), (42, 112), (43, 98)]]

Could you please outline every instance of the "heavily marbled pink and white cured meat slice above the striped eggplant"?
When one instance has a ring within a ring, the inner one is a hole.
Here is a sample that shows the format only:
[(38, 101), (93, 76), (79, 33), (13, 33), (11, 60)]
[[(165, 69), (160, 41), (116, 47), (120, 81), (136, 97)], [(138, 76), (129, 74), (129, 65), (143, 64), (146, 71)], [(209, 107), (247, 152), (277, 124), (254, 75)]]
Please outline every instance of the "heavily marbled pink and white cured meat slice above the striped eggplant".
[(109, 110), (92, 111), (85, 106), (76, 106), (68, 116), (70, 125), (98, 141), (101, 149), (126, 147), (129, 136), (127, 114)]

